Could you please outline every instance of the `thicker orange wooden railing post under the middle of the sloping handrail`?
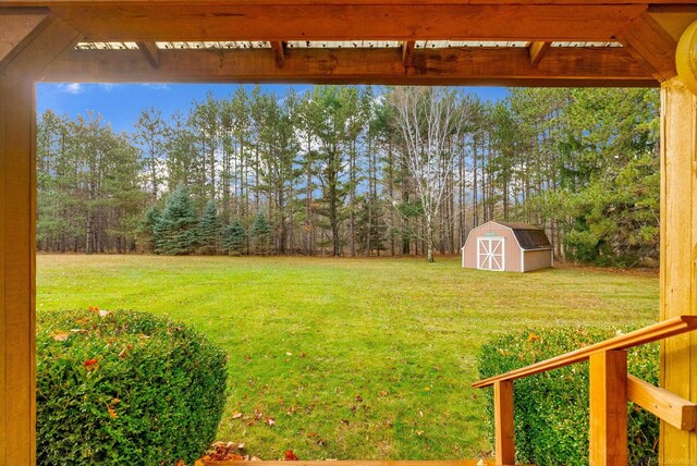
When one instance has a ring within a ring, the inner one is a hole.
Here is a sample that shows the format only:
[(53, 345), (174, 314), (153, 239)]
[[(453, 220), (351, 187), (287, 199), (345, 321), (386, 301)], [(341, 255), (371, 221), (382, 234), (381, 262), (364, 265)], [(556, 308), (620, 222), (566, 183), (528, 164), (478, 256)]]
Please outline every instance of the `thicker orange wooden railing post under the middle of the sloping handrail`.
[(591, 466), (627, 464), (627, 354), (606, 351), (590, 356)]

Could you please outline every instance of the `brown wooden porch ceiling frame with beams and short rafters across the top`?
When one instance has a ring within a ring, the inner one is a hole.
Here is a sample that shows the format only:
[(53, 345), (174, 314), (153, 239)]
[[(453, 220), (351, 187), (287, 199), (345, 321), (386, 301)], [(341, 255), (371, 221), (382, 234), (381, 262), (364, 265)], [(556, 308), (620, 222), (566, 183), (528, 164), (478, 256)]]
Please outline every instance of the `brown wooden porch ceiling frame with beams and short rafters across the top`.
[(676, 39), (697, 19), (697, 2), (10, 0), (0, 7), (0, 17), (22, 13), (49, 15), (80, 34), (80, 44), (44, 70), (40, 78), (49, 82), (656, 86), (675, 75)]

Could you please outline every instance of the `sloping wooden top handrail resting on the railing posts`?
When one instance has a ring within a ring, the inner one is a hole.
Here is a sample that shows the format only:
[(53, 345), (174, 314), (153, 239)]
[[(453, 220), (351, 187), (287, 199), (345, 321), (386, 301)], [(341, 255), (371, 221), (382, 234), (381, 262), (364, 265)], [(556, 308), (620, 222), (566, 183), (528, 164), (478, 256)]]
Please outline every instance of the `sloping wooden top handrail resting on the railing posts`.
[(536, 373), (547, 372), (548, 370), (558, 369), (575, 363), (580, 363), (590, 357), (595, 353), (611, 350), (628, 350), (634, 346), (640, 346), (657, 340), (667, 339), (669, 336), (678, 335), (693, 330), (697, 330), (697, 316), (680, 316), (672, 319), (663, 320), (653, 326), (645, 327), (639, 330), (619, 335), (610, 340), (606, 340), (590, 346), (585, 346), (571, 353), (555, 356), (551, 359), (542, 360), (530, 366), (522, 367), (499, 376), (479, 380), (472, 384), (477, 389), (492, 385), (494, 382), (503, 380), (516, 380), (524, 377), (535, 376)]

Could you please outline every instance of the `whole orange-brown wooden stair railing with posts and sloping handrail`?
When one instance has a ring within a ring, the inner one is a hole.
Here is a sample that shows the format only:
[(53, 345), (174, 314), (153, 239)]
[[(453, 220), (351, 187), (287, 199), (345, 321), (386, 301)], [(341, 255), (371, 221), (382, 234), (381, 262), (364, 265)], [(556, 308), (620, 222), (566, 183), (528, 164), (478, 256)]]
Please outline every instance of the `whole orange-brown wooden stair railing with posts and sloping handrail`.
[(627, 464), (627, 401), (677, 429), (695, 429), (697, 405), (627, 375), (626, 350), (696, 329), (697, 316), (675, 317), (473, 383), (493, 385), (497, 465), (515, 464), (513, 381), (585, 360), (590, 368), (590, 465)]

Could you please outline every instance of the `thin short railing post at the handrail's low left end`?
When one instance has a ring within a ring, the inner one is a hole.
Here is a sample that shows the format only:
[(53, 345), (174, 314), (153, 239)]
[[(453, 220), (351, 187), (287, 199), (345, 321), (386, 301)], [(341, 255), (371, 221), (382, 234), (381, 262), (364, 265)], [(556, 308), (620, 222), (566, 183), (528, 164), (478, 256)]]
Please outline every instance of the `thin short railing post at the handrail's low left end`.
[(515, 464), (515, 426), (513, 424), (513, 381), (493, 383), (493, 419), (497, 465)]

